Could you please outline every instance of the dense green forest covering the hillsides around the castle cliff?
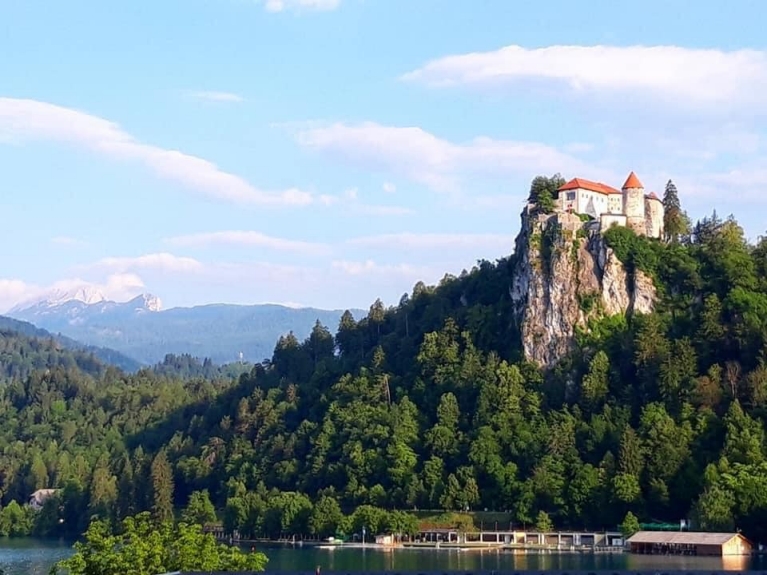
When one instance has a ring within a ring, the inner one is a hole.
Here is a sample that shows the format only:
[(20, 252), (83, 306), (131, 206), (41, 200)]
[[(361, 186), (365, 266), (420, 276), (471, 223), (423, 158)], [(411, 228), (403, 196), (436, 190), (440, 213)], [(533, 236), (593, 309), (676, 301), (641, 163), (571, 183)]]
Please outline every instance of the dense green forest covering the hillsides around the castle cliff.
[[(654, 278), (656, 311), (592, 322), (547, 372), (520, 357), (514, 255), (347, 312), (335, 335), (281, 337), (238, 378), (173, 358), (128, 375), (0, 333), (0, 533), (187, 506), (254, 536), (407, 531), (402, 510), (490, 509), (766, 541), (767, 240), (715, 213), (690, 225), (673, 189), (665, 202), (664, 241), (605, 234)], [(12, 503), (45, 487), (61, 490), (42, 512)]]

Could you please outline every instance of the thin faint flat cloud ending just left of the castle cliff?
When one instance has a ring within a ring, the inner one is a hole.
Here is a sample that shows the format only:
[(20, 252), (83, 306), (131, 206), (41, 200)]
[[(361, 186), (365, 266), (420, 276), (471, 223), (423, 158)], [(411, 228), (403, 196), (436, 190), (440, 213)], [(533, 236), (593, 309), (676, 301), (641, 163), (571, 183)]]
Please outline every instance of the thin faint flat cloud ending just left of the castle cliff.
[(384, 234), (355, 238), (349, 244), (364, 248), (394, 250), (503, 250), (510, 252), (514, 237), (505, 234)]

